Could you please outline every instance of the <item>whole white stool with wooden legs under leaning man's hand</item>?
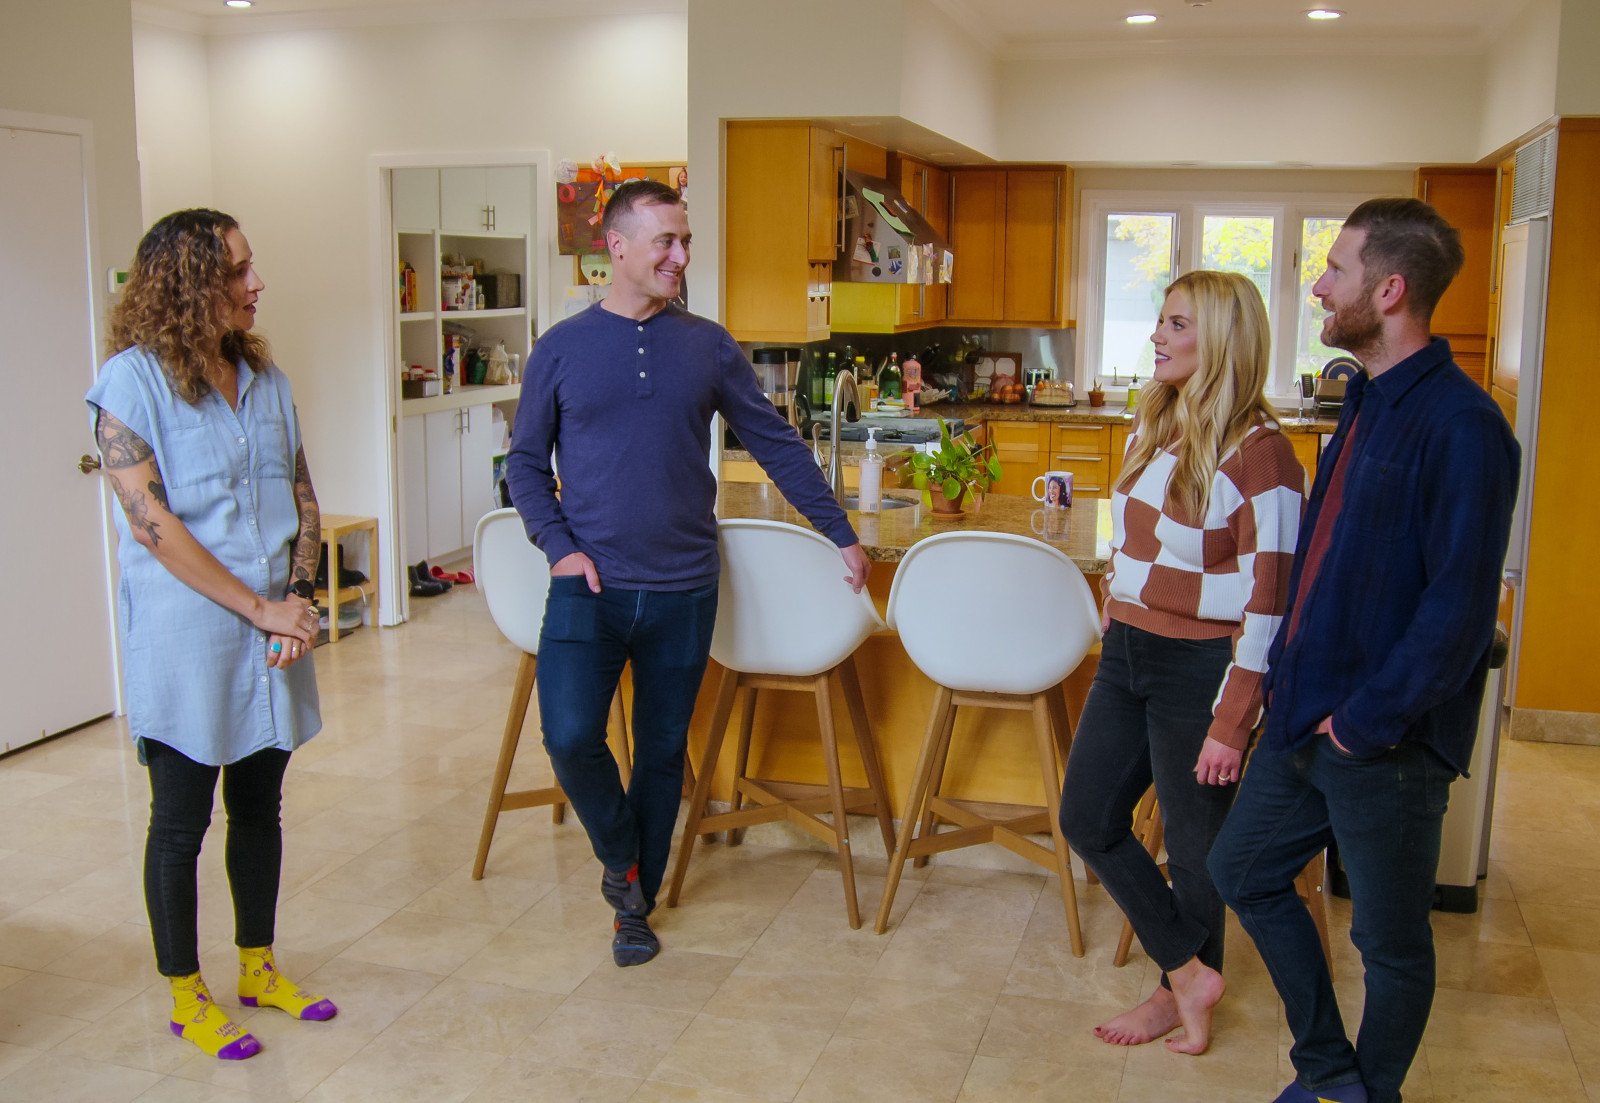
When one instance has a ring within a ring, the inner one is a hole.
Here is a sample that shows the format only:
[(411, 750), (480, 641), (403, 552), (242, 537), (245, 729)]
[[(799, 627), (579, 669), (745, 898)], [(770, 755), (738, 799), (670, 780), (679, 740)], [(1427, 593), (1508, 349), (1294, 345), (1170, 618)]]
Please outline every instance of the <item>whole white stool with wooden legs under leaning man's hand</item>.
[[(843, 562), (827, 538), (778, 520), (723, 520), (722, 584), (717, 596), (717, 628), (710, 655), (723, 666), (710, 738), (699, 762), (699, 783), (690, 799), (688, 821), (672, 868), (667, 906), (675, 908), (683, 888), (696, 836), (728, 831), (728, 842), (757, 823), (787, 820), (830, 844), (838, 852), (850, 925), (861, 927), (856, 903), (856, 868), (850, 858), (850, 813), (872, 812), (883, 831), (885, 850), (894, 845), (883, 770), (872, 743), (861, 679), (851, 660), (861, 642), (883, 628), (866, 591), (856, 594), (840, 581)], [(834, 730), (832, 677), (838, 676), (850, 711), (851, 733), (861, 751), (867, 788), (845, 788), (838, 772), (838, 735)], [(728, 733), (734, 695), (749, 690), (739, 719), (739, 749), (733, 778), (733, 810), (706, 815), (717, 756)], [(827, 784), (770, 781), (749, 776), (750, 728), (755, 698), (762, 690), (811, 693), (822, 736)], [(750, 807), (744, 807), (749, 799)], [(821, 815), (827, 813), (829, 821)]]

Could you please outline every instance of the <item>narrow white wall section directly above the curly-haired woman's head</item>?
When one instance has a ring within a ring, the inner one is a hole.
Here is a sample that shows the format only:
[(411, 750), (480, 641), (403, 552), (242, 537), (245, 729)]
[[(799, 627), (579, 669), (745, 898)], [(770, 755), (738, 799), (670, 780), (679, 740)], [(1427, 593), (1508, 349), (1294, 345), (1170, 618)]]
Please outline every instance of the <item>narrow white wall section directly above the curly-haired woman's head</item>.
[(187, 207), (213, 207), (205, 38), (139, 22), (133, 58), (146, 226)]

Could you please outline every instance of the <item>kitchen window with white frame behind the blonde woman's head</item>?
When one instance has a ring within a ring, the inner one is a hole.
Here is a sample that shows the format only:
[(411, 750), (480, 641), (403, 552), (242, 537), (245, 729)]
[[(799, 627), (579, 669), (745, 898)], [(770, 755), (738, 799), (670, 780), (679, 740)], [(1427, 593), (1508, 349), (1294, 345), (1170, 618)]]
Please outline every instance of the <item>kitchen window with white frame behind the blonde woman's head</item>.
[(1190, 269), (1246, 275), (1267, 304), (1267, 391), (1288, 397), (1301, 371), (1339, 355), (1318, 339), (1322, 306), (1310, 288), (1328, 247), (1365, 195), (1152, 195), (1083, 192), (1080, 387), (1125, 387), (1155, 367), (1150, 331), (1162, 291)]

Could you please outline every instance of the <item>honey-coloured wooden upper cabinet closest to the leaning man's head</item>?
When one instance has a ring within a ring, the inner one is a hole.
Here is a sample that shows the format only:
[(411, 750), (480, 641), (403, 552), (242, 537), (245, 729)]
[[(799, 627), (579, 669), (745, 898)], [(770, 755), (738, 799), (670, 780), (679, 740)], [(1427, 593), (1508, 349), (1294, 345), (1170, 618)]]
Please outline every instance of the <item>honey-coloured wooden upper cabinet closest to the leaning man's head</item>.
[(723, 293), (739, 341), (827, 336), (843, 157), (821, 126), (728, 123)]

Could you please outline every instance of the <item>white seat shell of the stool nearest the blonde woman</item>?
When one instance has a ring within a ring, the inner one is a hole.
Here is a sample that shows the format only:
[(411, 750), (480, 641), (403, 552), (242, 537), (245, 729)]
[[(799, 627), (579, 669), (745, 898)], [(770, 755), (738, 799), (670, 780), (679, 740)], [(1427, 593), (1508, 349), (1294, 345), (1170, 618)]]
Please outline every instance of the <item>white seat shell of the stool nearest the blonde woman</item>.
[(914, 544), (890, 588), (888, 623), (917, 669), (970, 693), (1042, 693), (1099, 639), (1099, 608), (1077, 564), (1006, 533)]

